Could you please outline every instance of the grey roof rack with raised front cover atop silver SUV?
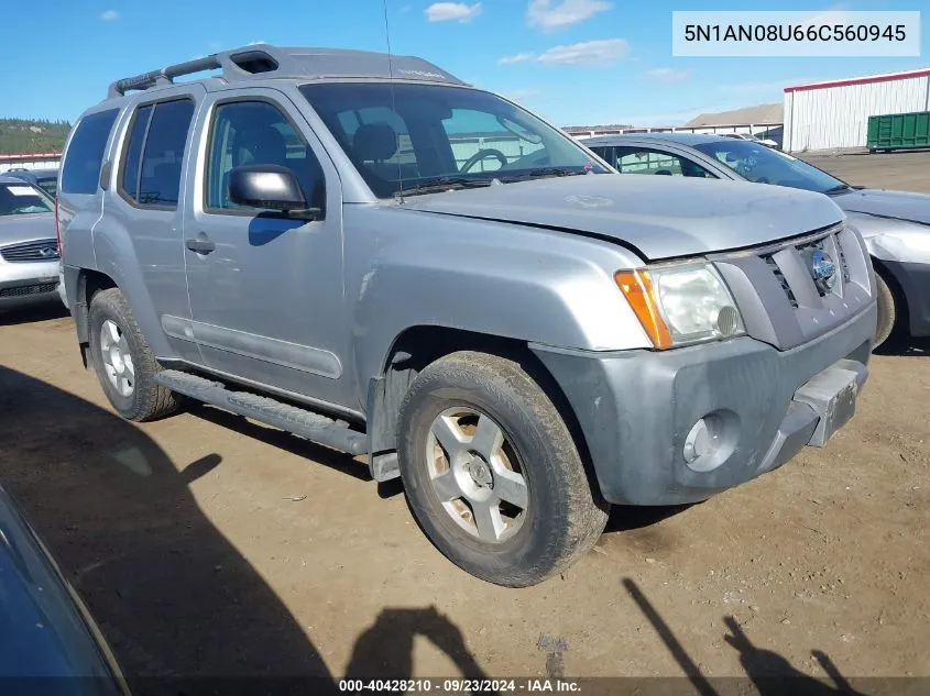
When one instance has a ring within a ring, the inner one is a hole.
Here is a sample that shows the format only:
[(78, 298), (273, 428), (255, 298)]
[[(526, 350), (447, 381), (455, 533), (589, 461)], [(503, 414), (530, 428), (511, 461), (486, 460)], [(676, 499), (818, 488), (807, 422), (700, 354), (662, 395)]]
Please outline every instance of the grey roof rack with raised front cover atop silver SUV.
[(205, 70), (222, 70), (219, 77), (226, 81), (260, 77), (308, 80), (394, 78), (466, 85), (446, 70), (415, 56), (395, 56), (343, 48), (282, 48), (271, 44), (251, 44), (119, 79), (110, 85), (107, 97), (112, 99), (122, 97), (131, 90), (146, 90), (172, 85), (177, 77)]

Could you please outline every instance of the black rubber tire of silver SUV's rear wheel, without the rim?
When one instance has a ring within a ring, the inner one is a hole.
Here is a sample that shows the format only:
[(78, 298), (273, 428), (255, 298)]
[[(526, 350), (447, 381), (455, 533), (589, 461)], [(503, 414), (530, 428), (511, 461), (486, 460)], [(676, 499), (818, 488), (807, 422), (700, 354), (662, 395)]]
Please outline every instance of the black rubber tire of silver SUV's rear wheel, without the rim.
[[(132, 394), (129, 396), (120, 394), (106, 373), (100, 347), (100, 332), (107, 320), (117, 324), (129, 345), (129, 354), (134, 367), (134, 384)], [(103, 393), (120, 416), (127, 420), (146, 421), (168, 416), (178, 409), (180, 396), (155, 383), (155, 375), (162, 367), (145, 342), (132, 316), (132, 310), (118, 288), (100, 290), (94, 295), (90, 300), (88, 323), (94, 371), (97, 373)]]

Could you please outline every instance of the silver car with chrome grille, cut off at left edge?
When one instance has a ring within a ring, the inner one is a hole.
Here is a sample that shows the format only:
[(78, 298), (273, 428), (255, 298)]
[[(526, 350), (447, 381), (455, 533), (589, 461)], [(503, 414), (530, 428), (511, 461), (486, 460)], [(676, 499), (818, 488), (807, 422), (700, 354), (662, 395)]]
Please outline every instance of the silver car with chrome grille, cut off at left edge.
[(58, 298), (55, 201), (39, 187), (0, 175), (0, 309)]

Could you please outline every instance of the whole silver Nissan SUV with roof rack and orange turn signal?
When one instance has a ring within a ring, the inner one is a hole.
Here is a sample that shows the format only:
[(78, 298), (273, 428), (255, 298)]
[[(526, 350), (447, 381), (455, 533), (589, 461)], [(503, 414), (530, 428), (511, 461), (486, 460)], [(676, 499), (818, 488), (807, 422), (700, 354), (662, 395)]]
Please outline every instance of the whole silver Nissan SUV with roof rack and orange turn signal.
[(121, 416), (186, 396), (368, 454), (501, 585), (567, 567), (609, 504), (825, 444), (867, 377), (872, 273), (830, 199), (619, 176), (415, 57), (256, 45), (119, 80), (58, 203)]

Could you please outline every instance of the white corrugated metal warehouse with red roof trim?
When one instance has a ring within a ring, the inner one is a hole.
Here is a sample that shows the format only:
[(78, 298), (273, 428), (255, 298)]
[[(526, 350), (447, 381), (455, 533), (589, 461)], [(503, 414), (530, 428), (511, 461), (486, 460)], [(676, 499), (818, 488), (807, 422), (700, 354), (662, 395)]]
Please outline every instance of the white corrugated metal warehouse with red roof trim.
[(868, 117), (913, 111), (930, 111), (930, 68), (786, 87), (783, 147), (865, 147)]

